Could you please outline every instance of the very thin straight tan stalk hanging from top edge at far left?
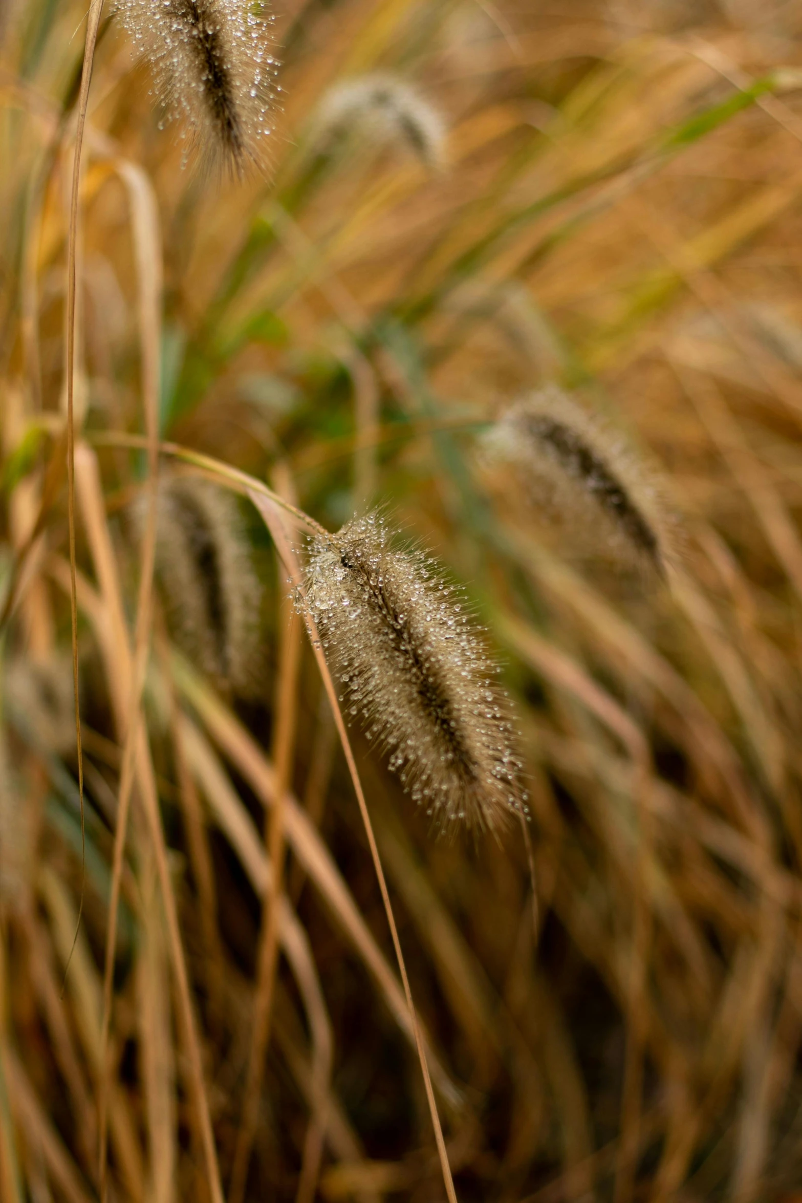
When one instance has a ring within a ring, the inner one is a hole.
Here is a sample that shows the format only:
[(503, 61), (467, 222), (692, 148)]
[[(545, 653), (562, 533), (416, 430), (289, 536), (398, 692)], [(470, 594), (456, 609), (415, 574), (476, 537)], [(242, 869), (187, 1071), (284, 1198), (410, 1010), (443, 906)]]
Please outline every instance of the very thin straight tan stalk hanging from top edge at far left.
[[(103, 0), (93, 0), (87, 19), (87, 41), (84, 45), (83, 70), (81, 75), (81, 94), (78, 96), (78, 111), (76, 124), (76, 148), (72, 161), (72, 189), (70, 196), (70, 231), (67, 237), (67, 328), (66, 328), (66, 386), (67, 386), (67, 526), (70, 532), (70, 570), (72, 573), (70, 583), (70, 617), (72, 624), (72, 683), (76, 705), (76, 745), (78, 749), (78, 798), (81, 801), (81, 855), (82, 873), (85, 873), (85, 829), (83, 813), (83, 755), (81, 749), (81, 699), (78, 697), (78, 600), (76, 598), (76, 466), (75, 466), (75, 356), (76, 356), (76, 254), (78, 242), (78, 195), (81, 191), (81, 152), (83, 148), (83, 131), (87, 122), (87, 106), (89, 103), (89, 84), (91, 82), (91, 66), (95, 57), (95, 42), (97, 40), (97, 28), (103, 8)], [(78, 924), (83, 911), (83, 891), (85, 882), (81, 884), (81, 906), (78, 907)], [(76, 929), (77, 936), (77, 929)], [(67, 968), (69, 968), (67, 961)]]

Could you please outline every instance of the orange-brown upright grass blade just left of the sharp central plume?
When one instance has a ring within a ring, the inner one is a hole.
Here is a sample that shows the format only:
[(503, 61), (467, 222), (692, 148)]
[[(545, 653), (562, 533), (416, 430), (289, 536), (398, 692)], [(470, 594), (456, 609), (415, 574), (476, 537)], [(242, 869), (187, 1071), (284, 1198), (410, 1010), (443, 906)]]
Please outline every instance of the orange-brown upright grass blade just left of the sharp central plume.
[[(281, 569), (279, 573), (283, 577)], [(298, 707), (298, 670), (301, 665), (301, 621), (292, 606), (284, 580), (279, 582), (285, 604), (279, 610), (283, 626), (279, 647), (279, 668), (275, 682), (275, 731), (273, 763), (275, 765), (275, 806), (265, 814), (265, 843), (271, 857), (269, 888), (265, 893), (262, 930), (259, 943), (256, 996), (251, 1031), (248, 1080), (243, 1097), (242, 1121), (234, 1150), (228, 1203), (242, 1203), (245, 1193), (248, 1165), (256, 1132), (259, 1095), (262, 1086), (265, 1056), (271, 1033), (271, 1009), (275, 984), (278, 950), (278, 903), (284, 890), (284, 810), (292, 778), (295, 727)], [(314, 1190), (314, 1184), (313, 1184)], [(308, 1187), (305, 1187), (308, 1192)], [(305, 1199), (307, 1195), (304, 1195)], [(301, 1198), (301, 1195), (299, 1195)]]

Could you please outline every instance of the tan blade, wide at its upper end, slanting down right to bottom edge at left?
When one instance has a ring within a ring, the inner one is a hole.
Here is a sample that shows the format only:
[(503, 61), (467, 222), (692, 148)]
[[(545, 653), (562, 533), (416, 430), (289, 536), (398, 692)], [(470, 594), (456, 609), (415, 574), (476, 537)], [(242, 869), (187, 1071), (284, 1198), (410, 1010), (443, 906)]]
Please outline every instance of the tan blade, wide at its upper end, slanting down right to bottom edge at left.
[[(114, 703), (117, 722), (120, 728), (124, 728), (124, 723), (127, 718), (127, 705), (130, 700), (129, 691), (131, 688), (131, 680), (133, 675), (132, 651), (125, 626), (117, 565), (111, 534), (106, 522), (100, 473), (94, 452), (85, 446), (79, 448), (77, 466), (79, 467), (79, 496), (84, 514), (84, 522), (87, 526), (87, 534), (89, 538), (89, 546), (95, 564), (95, 571), (101, 583), (101, 593), (107, 612), (107, 630), (113, 633), (111, 642), (108, 640), (101, 641), (101, 647), (106, 657), (111, 656), (111, 659), (107, 658), (105, 665), (106, 677), (109, 694), (112, 695)], [(184, 952), (182, 947), (176, 895), (170, 875), (170, 866), (167, 864), (167, 848), (161, 825), (161, 813), (159, 811), (156, 780), (147, 731), (141, 719), (141, 709), (137, 709), (132, 727), (136, 728), (133, 771), (139, 787), (147, 831), (152, 845), (150, 851), (155, 859), (156, 876), (165, 908), (170, 956), (176, 977), (179, 1014), (182, 1018), (184, 1038), (186, 1041), (190, 1080), (206, 1162), (208, 1185), (213, 1203), (222, 1203), (222, 1187), (220, 1185), (220, 1172), (218, 1167), (214, 1132), (209, 1114), (209, 1101), (203, 1080), (201, 1043), (197, 1032), (195, 1011), (192, 1007), (186, 962), (184, 960)], [(119, 822), (120, 818), (118, 816), (118, 824)]]

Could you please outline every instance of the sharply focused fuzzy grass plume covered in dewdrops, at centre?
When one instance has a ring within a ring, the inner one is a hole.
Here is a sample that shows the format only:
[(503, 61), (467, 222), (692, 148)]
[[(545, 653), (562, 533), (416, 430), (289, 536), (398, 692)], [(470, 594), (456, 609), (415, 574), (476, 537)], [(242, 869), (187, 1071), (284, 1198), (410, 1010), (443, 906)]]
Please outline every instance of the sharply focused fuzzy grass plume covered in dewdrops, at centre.
[(313, 543), (307, 600), (350, 715), (436, 826), (493, 829), (523, 807), (497, 668), (432, 559), (394, 550), (372, 512)]

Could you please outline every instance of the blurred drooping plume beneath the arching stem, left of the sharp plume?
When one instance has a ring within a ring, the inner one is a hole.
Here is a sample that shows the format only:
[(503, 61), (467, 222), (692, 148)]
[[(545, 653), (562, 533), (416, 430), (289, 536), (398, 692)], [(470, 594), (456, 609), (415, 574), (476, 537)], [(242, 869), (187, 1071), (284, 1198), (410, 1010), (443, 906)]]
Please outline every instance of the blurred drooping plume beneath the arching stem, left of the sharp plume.
[(248, 695), (260, 665), (261, 591), (237, 503), (174, 478), (160, 484), (158, 510), (156, 576), (173, 635), (218, 686)]

